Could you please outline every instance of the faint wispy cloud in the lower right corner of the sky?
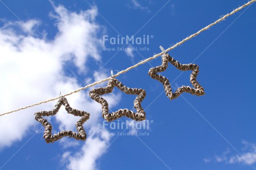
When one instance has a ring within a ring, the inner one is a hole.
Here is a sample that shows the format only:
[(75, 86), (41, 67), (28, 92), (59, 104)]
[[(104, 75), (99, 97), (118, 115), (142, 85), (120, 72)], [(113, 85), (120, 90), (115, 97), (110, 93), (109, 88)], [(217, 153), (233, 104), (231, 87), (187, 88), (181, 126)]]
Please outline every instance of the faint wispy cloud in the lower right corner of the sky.
[[(214, 156), (217, 162), (225, 162), (228, 164), (242, 163), (252, 165), (256, 163), (256, 144), (242, 141), (244, 148), (239, 154), (231, 155), (229, 149), (223, 152), (221, 155)], [(204, 159), (205, 162), (210, 162), (211, 159)]]

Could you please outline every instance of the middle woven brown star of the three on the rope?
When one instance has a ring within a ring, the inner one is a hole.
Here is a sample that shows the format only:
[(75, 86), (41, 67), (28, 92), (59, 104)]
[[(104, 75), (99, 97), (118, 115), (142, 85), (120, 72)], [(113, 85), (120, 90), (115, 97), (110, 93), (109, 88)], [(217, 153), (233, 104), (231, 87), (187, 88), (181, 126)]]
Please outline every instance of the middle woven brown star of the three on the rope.
[[(109, 104), (107, 103), (106, 99), (100, 96), (111, 93), (115, 86), (126, 94), (137, 94), (134, 101), (134, 108), (136, 108), (137, 113), (134, 113), (129, 109), (119, 109), (116, 112), (109, 113)], [(146, 97), (146, 92), (144, 89), (125, 87), (124, 84), (119, 82), (117, 79), (111, 78), (106, 87), (92, 89), (92, 91), (90, 91), (90, 97), (102, 105), (102, 117), (108, 122), (114, 121), (115, 119), (123, 116), (134, 119), (135, 121), (143, 121), (146, 119), (146, 113), (140, 104)]]

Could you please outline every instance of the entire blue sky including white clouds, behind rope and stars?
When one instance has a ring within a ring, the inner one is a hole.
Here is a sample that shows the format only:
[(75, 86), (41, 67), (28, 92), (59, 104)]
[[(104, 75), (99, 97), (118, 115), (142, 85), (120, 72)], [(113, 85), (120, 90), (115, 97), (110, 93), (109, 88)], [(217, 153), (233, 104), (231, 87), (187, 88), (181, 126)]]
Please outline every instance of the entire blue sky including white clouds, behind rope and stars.
[[(169, 48), (247, 1), (0, 1), (1, 108), (4, 113), (74, 91)], [(145, 129), (104, 126), (101, 105), (88, 92), (68, 96), (73, 108), (91, 114), (87, 140), (47, 144), (33, 113), (48, 102), (0, 118), (0, 169), (256, 169), (256, 4), (242, 9), (169, 54), (199, 66), (201, 97), (183, 93), (170, 101), (147, 72), (158, 57), (117, 79), (146, 90)], [(149, 44), (120, 48), (109, 39), (149, 36)], [(189, 75), (169, 64), (162, 73), (172, 86), (191, 86)], [(133, 109), (134, 95), (115, 88), (104, 98), (110, 111)], [(77, 117), (61, 108), (47, 117), (53, 132), (76, 131)], [(115, 121), (129, 122), (128, 118)], [(140, 123), (137, 124), (140, 126)], [(127, 133), (137, 135), (127, 136)], [(123, 135), (120, 135), (122, 133)], [(146, 136), (139, 134), (146, 133)], [(119, 135), (118, 135), (119, 134)]]

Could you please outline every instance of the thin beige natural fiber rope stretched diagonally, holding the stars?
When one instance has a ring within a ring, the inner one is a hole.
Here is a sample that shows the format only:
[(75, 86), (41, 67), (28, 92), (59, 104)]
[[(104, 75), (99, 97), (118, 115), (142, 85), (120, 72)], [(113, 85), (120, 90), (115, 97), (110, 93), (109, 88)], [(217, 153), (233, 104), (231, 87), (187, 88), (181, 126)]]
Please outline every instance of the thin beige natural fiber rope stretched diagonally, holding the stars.
[[(198, 34), (200, 34), (201, 32), (206, 31), (206, 30), (209, 29), (210, 27), (212, 27), (212, 26), (214, 26), (215, 24), (217, 24), (217, 23), (219, 23), (219, 22), (225, 20), (225, 18), (227, 18), (227, 17), (229, 17), (229, 16), (232, 16), (234, 13), (240, 11), (240, 10), (241, 10), (242, 8), (244, 8), (244, 7), (249, 6), (250, 4), (254, 3), (255, 1), (256, 1), (256, 0), (249, 1), (248, 3), (245, 3), (243, 6), (234, 9), (232, 12), (230, 12), (230, 13), (226, 14), (225, 16), (221, 17), (220, 19), (218, 19), (218, 20), (215, 21), (214, 23), (209, 24), (208, 26), (204, 27), (203, 29), (200, 29), (200, 31), (198, 31), (198, 32), (196, 32), (196, 33), (194, 33), (194, 34), (191, 34), (191, 36), (189, 36), (189, 37), (186, 37), (185, 39), (183, 39), (183, 41), (180, 41), (180, 42), (176, 43), (174, 46), (172, 46), (172, 47), (166, 49), (166, 52), (168, 52), (168, 51), (170, 51), (171, 49), (174, 49), (174, 48), (180, 46), (181, 44), (183, 44), (184, 42), (188, 41), (189, 39), (191, 39), (191, 38), (193, 38), (193, 37), (195, 37), (195, 36), (198, 36)], [(141, 62), (135, 64), (134, 66), (128, 67), (128, 68), (126, 68), (125, 70), (123, 70), (123, 71), (121, 71), (121, 72), (115, 74), (114, 77), (117, 77), (117, 76), (119, 76), (120, 74), (124, 74), (124, 73), (126, 73), (127, 71), (130, 71), (130, 69), (133, 69), (133, 68), (135, 68), (135, 67), (138, 67), (138, 66), (140, 66), (141, 64), (144, 64), (144, 63), (146, 63), (146, 62), (148, 62), (148, 61), (150, 61), (150, 60), (152, 60), (152, 59), (155, 59), (156, 57), (159, 57), (159, 56), (161, 56), (161, 55), (163, 55), (163, 54), (164, 54), (164, 52), (161, 52), (161, 53), (159, 53), (159, 54), (155, 54), (153, 57), (149, 57), (149, 58), (145, 59), (144, 61), (141, 61)], [(105, 82), (105, 81), (108, 81), (108, 80), (110, 80), (110, 79), (111, 79), (111, 77), (102, 79), (101, 81), (94, 82), (94, 83), (92, 83), (92, 84), (88, 84), (87, 86), (82, 87), (82, 88), (79, 88), (79, 89), (77, 89), (76, 91), (73, 91), (73, 92), (70, 92), (70, 93), (67, 93), (67, 94), (63, 95), (63, 97), (69, 96), (69, 95), (71, 95), (71, 94), (73, 94), (73, 93), (77, 93), (77, 92), (81, 91), (82, 89), (86, 89), (86, 88), (88, 88), (88, 87), (95, 86), (96, 84), (100, 84), (100, 83)], [(48, 99), (47, 101), (42, 101), (42, 102), (39, 102), (39, 103), (31, 104), (31, 105), (26, 106), (26, 107), (22, 107), (22, 108), (15, 109), (15, 110), (10, 111), (10, 112), (6, 112), (6, 113), (3, 113), (3, 114), (0, 114), (0, 116), (3, 116), (3, 115), (5, 115), (5, 114), (9, 114), (9, 113), (13, 113), (13, 112), (17, 112), (17, 111), (21, 111), (21, 110), (23, 110), (23, 109), (26, 109), (26, 108), (29, 108), (29, 107), (33, 107), (33, 106), (37, 106), (37, 105), (42, 104), (42, 103), (47, 103), (47, 102), (50, 102), (50, 101), (55, 101), (55, 100), (58, 99), (58, 98), (60, 98), (60, 97), (56, 97), (56, 98)]]

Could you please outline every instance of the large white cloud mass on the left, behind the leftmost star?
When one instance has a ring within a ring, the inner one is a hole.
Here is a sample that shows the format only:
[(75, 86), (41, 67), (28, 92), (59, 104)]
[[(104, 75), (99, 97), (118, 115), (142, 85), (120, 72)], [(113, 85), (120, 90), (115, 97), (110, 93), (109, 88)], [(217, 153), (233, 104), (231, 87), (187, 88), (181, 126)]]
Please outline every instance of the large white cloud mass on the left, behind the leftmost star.
[[(51, 40), (46, 38), (47, 34), (35, 36), (34, 32), (38, 31), (40, 26), (40, 22), (35, 19), (6, 22), (0, 28), (0, 113), (56, 97), (59, 91), (65, 94), (80, 88), (81, 82), (65, 74), (65, 62), (75, 64), (79, 73), (86, 73), (88, 58), (101, 62), (99, 49), (102, 43), (101, 38), (97, 37), (97, 34), (101, 33), (101, 27), (95, 23), (97, 8), (93, 7), (80, 13), (70, 12), (63, 6), (53, 5), (53, 9), (54, 12), (50, 16), (56, 21), (57, 34)], [(100, 74), (94, 76), (97, 79)], [(114, 105), (119, 98), (120, 94), (111, 94), (109, 103)], [(67, 99), (71, 107), (85, 110), (91, 113), (91, 116), (84, 124), (88, 139), (83, 144), (82, 151), (77, 153), (76, 158), (70, 157), (70, 151), (67, 151), (62, 159), (70, 161), (67, 165), (70, 169), (73, 169), (73, 165), (82, 164), (93, 169), (96, 167), (96, 159), (101, 156), (102, 149), (110, 140), (109, 137), (102, 137), (100, 133), (101, 106), (90, 99), (88, 90), (67, 96)], [(4, 131), (1, 132), (0, 148), (4, 149), (14, 142), (21, 141), (27, 132), (35, 131), (35, 126), (41, 127), (42, 125), (35, 121), (33, 113), (50, 110), (55, 103), (56, 101), (48, 102), (2, 116), (0, 129)], [(68, 117), (68, 114), (61, 112), (48, 118), (60, 124), (58, 128), (53, 127), (54, 131), (75, 130), (74, 122), (77, 117)], [(40, 133), (42, 132), (43, 130)], [(76, 142), (67, 139), (63, 139), (60, 144), (66, 147), (68, 144), (78, 146)]]

